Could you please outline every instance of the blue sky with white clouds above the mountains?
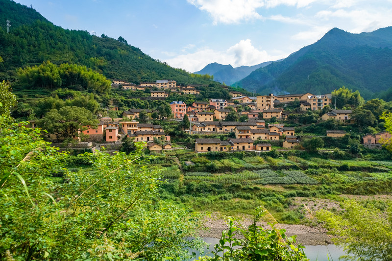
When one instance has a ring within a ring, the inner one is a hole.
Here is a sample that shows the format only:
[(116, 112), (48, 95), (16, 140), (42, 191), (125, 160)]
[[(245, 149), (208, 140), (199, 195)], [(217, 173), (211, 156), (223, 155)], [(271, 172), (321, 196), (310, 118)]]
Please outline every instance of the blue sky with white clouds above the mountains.
[[(15, 0), (53, 24), (129, 45), (174, 68), (286, 58), (338, 27), (392, 25), (392, 0)], [(12, 25), (12, 19), (11, 25)]]

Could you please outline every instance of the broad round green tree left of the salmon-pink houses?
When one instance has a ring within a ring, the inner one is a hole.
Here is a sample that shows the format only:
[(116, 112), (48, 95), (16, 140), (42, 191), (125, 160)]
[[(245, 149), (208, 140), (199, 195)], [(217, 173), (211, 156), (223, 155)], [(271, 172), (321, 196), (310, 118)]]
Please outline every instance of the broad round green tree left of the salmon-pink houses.
[(38, 125), (47, 130), (50, 134), (57, 135), (57, 138), (64, 140), (78, 136), (78, 131), (83, 131), (89, 125), (97, 128), (99, 121), (93, 116), (91, 111), (76, 106), (65, 106), (59, 110), (50, 110), (43, 119), (38, 121)]

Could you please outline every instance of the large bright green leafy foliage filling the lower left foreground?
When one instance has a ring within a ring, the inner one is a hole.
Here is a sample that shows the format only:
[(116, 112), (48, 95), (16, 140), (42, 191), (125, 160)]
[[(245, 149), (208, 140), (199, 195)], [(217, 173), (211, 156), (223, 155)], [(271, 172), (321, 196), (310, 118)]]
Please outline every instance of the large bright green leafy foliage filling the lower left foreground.
[[(198, 215), (159, 200), (159, 170), (141, 145), (129, 155), (79, 155), (94, 172), (0, 117), (0, 260), (187, 259)], [(53, 175), (66, 173), (67, 182)]]

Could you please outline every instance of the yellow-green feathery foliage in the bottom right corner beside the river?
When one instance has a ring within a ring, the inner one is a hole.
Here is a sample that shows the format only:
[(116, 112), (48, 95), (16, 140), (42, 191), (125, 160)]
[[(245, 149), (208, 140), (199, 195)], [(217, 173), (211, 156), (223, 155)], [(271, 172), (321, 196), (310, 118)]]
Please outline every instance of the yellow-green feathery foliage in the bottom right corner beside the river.
[(348, 254), (345, 260), (389, 261), (392, 260), (392, 206), (387, 213), (372, 207), (361, 206), (347, 200), (342, 203), (344, 215), (326, 210), (317, 213), (325, 222), (333, 241), (343, 246)]

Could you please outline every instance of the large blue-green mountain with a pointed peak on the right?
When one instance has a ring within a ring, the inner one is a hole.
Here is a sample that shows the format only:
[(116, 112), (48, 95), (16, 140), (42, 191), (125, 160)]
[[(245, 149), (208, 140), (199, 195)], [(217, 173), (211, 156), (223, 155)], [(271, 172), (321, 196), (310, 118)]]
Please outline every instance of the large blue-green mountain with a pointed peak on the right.
[(392, 89), (392, 27), (352, 34), (338, 28), (280, 62), (251, 72), (232, 86), (260, 94), (326, 94), (342, 86), (365, 98)]

